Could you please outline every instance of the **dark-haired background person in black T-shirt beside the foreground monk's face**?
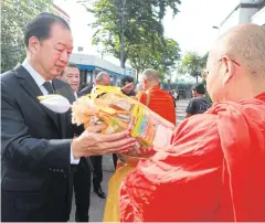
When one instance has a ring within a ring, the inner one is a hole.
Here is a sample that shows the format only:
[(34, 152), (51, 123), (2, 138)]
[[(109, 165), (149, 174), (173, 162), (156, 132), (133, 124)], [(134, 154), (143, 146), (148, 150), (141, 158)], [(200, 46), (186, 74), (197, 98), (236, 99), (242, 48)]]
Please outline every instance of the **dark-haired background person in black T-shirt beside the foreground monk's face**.
[(205, 87), (203, 84), (197, 84), (192, 89), (192, 98), (186, 109), (186, 118), (206, 112), (211, 104), (204, 97)]

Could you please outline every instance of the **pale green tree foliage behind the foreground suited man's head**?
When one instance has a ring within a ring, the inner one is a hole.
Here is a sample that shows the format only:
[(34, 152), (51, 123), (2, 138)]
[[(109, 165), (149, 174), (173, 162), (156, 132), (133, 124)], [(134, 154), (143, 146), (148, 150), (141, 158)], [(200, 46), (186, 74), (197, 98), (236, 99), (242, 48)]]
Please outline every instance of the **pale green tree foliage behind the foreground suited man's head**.
[(13, 68), (25, 57), (23, 33), (26, 23), (49, 10), (52, 0), (1, 1), (1, 72)]

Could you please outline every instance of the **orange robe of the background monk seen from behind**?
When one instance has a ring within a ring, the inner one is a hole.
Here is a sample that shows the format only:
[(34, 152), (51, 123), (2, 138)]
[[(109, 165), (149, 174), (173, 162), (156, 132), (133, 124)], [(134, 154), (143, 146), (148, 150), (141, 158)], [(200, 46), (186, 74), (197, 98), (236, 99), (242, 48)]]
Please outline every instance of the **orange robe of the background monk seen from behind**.
[(176, 109), (169, 93), (156, 85), (139, 95), (138, 100), (165, 119), (176, 125)]

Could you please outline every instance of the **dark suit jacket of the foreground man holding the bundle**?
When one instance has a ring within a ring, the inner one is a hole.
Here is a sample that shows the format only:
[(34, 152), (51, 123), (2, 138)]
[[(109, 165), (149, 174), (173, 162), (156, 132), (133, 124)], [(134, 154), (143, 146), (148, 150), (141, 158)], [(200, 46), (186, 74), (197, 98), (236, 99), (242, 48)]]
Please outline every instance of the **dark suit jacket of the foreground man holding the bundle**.
[[(53, 81), (72, 103), (71, 88)], [(23, 66), (1, 75), (2, 221), (67, 221), (71, 202), (70, 110), (40, 104), (41, 89)]]

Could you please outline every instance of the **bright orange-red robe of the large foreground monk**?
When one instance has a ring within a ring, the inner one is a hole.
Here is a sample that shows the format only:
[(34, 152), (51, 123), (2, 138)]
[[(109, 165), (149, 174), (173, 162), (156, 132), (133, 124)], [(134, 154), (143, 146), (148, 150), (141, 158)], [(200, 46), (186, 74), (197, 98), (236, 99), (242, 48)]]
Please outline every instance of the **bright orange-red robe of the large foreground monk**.
[(265, 93), (186, 119), (120, 190), (121, 222), (265, 222)]

